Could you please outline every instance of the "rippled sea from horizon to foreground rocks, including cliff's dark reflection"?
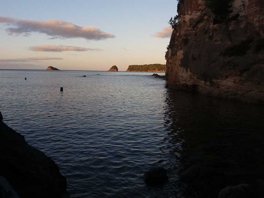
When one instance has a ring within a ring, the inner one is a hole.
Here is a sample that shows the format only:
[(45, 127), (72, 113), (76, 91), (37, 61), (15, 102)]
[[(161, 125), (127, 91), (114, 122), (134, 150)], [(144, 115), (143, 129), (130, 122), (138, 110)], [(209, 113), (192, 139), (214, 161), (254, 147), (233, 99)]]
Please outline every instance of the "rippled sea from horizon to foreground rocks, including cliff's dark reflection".
[[(263, 106), (167, 90), (148, 75), (0, 70), (0, 110), (59, 165), (72, 197), (185, 197), (184, 162), (264, 165)], [(168, 170), (163, 189), (144, 183), (155, 166)]]

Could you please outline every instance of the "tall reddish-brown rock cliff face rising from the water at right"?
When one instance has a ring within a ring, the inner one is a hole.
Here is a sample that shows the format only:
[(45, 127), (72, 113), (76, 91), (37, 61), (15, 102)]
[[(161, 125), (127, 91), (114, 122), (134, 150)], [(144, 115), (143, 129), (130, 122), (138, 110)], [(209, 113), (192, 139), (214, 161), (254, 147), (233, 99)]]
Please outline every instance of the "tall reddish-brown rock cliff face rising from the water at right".
[(216, 21), (208, 0), (180, 0), (166, 53), (167, 86), (264, 103), (264, 1), (233, 0)]

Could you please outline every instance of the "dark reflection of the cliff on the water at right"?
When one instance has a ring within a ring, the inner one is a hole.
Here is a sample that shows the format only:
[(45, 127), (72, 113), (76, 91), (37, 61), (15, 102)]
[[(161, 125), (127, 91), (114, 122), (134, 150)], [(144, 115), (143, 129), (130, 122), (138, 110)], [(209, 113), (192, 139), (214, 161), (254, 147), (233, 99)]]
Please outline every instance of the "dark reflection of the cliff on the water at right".
[(229, 181), (219, 188), (263, 173), (264, 106), (172, 90), (166, 103), (164, 141), (182, 169), (200, 164), (224, 172)]

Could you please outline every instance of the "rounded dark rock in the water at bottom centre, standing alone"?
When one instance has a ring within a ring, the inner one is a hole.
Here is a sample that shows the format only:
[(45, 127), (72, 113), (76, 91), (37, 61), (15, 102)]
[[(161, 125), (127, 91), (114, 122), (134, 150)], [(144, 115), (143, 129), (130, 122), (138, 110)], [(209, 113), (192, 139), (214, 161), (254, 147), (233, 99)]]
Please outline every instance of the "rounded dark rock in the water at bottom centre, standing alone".
[(167, 170), (165, 168), (152, 168), (144, 174), (147, 185), (161, 186), (168, 181)]

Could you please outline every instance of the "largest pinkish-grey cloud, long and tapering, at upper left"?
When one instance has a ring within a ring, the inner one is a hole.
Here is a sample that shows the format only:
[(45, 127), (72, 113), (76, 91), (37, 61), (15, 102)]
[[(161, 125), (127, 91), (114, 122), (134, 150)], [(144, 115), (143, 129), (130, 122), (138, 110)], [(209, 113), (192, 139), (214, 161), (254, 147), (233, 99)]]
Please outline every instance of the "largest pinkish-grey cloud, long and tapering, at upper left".
[(84, 38), (87, 40), (103, 40), (115, 38), (115, 35), (101, 31), (93, 26), (79, 26), (62, 20), (19, 20), (9, 17), (0, 16), (0, 23), (13, 25), (14, 28), (7, 28), (5, 31), (9, 35), (28, 35), (32, 32), (39, 32), (52, 38)]

